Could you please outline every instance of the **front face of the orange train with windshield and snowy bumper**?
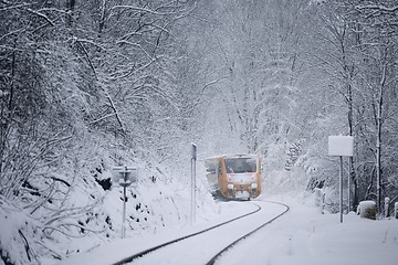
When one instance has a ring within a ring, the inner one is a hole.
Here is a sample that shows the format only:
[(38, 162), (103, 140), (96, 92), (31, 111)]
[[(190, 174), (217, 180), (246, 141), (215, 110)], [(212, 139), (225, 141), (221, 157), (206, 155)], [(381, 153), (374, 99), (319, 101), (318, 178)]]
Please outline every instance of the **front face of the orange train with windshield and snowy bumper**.
[(227, 172), (224, 197), (235, 200), (250, 200), (261, 192), (261, 166), (256, 156), (226, 157)]

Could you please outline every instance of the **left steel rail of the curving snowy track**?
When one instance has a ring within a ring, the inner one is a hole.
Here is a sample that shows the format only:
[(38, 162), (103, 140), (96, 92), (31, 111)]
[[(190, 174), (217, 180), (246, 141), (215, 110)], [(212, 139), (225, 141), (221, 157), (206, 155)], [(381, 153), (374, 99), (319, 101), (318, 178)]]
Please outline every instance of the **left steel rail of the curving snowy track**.
[[(250, 203), (251, 203), (251, 202), (250, 202)], [(136, 259), (136, 258), (138, 258), (138, 257), (143, 257), (143, 256), (147, 255), (147, 254), (150, 253), (150, 252), (157, 251), (157, 250), (159, 250), (159, 248), (161, 248), (161, 247), (171, 245), (171, 244), (177, 243), (177, 242), (179, 242), (179, 241), (184, 241), (184, 240), (187, 240), (187, 239), (189, 239), (189, 237), (192, 237), (192, 236), (196, 236), (196, 235), (206, 233), (206, 232), (211, 231), (211, 230), (213, 230), (213, 229), (217, 229), (217, 227), (220, 227), (220, 226), (226, 225), (226, 224), (228, 224), (228, 223), (234, 222), (234, 221), (237, 221), (237, 220), (239, 220), (239, 219), (242, 219), (242, 218), (249, 216), (249, 215), (251, 215), (251, 214), (254, 214), (254, 213), (256, 213), (256, 212), (259, 212), (259, 211), (261, 210), (261, 206), (260, 206), (260, 205), (258, 205), (258, 204), (255, 204), (255, 203), (252, 203), (252, 204), (254, 204), (258, 209), (254, 210), (254, 211), (251, 211), (251, 212), (249, 212), (249, 213), (239, 215), (238, 218), (234, 218), (234, 219), (228, 220), (228, 221), (226, 221), (226, 222), (216, 224), (216, 225), (213, 225), (213, 226), (207, 227), (207, 229), (205, 229), (205, 230), (195, 232), (195, 233), (192, 233), (192, 234), (188, 234), (188, 235), (178, 237), (178, 239), (176, 239), (176, 240), (165, 242), (165, 243), (163, 243), (163, 244), (160, 244), (160, 245), (149, 247), (149, 248), (144, 250), (144, 251), (142, 251), (142, 252), (138, 252), (138, 253), (136, 253), (136, 254), (134, 254), (134, 255), (130, 255), (130, 256), (128, 256), (128, 257), (125, 257), (125, 258), (123, 258), (123, 259), (121, 259), (121, 261), (118, 261), (118, 262), (116, 262), (116, 263), (113, 263), (112, 265), (123, 265), (123, 264), (126, 264), (126, 263), (130, 263), (130, 262), (133, 262), (134, 259)]]

